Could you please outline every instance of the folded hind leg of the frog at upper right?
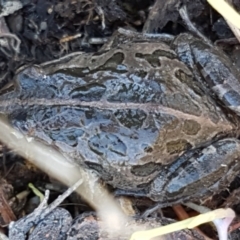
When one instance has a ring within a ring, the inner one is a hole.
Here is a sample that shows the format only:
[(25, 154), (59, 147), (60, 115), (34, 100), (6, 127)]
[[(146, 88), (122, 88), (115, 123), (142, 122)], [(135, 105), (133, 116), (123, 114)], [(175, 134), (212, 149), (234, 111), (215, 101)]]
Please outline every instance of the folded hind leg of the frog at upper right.
[(240, 116), (240, 75), (223, 51), (189, 34), (179, 35), (174, 46), (180, 60), (193, 70), (204, 90), (212, 91)]

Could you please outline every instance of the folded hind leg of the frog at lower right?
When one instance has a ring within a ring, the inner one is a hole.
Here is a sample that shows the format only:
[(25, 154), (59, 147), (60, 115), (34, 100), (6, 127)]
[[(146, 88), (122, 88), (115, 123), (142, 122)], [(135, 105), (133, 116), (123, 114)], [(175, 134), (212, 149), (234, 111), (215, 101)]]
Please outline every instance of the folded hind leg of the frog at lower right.
[(209, 197), (234, 180), (240, 170), (239, 161), (240, 141), (234, 138), (192, 150), (168, 166), (168, 179), (159, 174), (148, 196), (167, 205)]

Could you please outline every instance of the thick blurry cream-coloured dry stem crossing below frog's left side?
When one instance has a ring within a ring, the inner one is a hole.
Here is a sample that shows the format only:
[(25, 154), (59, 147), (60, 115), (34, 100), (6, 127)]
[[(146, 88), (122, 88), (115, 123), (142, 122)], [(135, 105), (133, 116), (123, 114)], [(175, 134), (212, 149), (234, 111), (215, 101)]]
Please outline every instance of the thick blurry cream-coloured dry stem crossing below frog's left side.
[(100, 186), (97, 177), (73, 164), (71, 159), (64, 158), (59, 152), (33, 138), (25, 137), (3, 121), (0, 121), (0, 141), (68, 186), (82, 178), (83, 184), (77, 192), (98, 211), (107, 227), (120, 228), (127, 221), (113, 198)]

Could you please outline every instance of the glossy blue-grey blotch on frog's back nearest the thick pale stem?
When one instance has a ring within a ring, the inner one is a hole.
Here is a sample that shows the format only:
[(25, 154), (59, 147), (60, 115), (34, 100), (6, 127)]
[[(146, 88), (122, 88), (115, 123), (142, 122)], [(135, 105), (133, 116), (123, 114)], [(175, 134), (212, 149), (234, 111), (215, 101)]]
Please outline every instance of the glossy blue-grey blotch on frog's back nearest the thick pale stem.
[(52, 140), (64, 142), (71, 147), (77, 146), (78, 137), (81, 137), (83, 134), (84, 131), (79, 128), (66, 128), (49, 132), (49, 136)]

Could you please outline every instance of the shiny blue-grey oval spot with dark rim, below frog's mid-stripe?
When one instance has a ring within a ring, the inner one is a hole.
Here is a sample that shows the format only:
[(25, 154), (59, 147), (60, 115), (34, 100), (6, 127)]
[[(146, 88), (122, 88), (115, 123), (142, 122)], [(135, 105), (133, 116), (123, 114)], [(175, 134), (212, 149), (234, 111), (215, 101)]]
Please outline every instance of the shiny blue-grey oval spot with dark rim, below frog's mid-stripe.
[(100, 133), (91, 137), (89, 147), (96, 154), (108, 157), (111, 153), (126, 156), (127, 147), (116, 135)]

